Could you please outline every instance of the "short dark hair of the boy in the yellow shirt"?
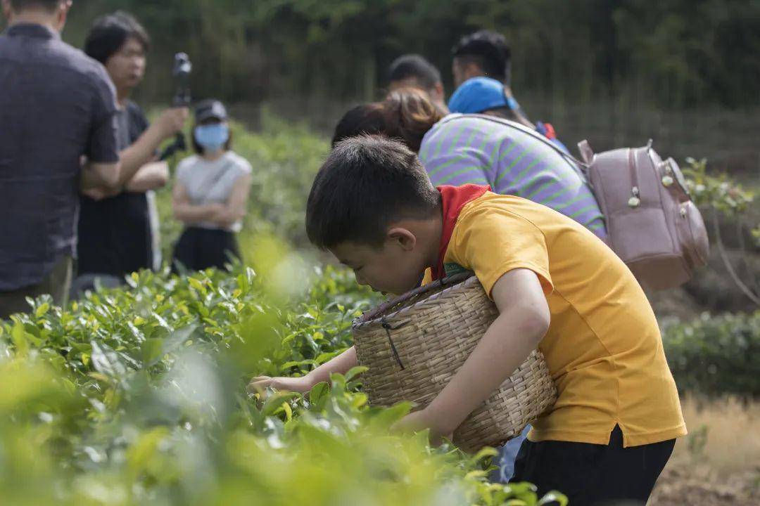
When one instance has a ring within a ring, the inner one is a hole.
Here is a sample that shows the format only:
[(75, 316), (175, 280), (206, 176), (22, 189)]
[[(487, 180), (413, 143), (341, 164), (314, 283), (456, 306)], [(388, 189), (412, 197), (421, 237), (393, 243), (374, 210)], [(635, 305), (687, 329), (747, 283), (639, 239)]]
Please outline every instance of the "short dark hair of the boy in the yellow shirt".
[(350, 137), (314, 179), (306, 234), (321, 250), (346, 241), (381, 247), (391, 223), (434, 216), (440, 198), (407, 146), (377, 135)]

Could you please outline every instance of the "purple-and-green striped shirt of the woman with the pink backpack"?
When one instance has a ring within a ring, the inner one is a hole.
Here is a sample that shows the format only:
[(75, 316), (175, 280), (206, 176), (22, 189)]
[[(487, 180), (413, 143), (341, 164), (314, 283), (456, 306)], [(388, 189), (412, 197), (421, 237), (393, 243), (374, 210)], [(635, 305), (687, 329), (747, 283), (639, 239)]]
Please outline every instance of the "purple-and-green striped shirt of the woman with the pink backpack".
[(423, 138), (420, 161), (436, 187), (480, 184), (548, 206), (606, 236), (594, 193), (540, 134), (483, 115), (448, 115)]

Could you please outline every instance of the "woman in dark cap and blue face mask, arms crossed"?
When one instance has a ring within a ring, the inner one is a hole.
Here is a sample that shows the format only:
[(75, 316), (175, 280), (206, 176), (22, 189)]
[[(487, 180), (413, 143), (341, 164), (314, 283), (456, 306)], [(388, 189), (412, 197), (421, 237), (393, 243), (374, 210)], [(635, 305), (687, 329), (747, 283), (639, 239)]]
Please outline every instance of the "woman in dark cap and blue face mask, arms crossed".
[(197, 154), (179, 163), (174, 185), (174, 216), (185, 224), (174, 249), (175, 272), (223, 269), (230, 255), (239, 257), (235, 234), (252, 181), (251, 164), (231, 150), (222, 102), (198, 104), (192, 140)]

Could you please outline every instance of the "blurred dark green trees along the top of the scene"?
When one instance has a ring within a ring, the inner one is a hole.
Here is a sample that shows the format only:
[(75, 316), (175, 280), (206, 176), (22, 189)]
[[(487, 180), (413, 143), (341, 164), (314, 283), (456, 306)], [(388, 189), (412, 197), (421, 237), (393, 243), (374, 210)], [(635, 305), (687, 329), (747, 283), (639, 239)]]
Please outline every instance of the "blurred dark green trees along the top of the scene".
[[(757, 0), (90, 0), (67, 36), (123, 9), (154, 37), (154, 61), (186, 51), (198, 96), (372, 99), (397, 55), (420, 52), (450, 81), (465, 33), (499, 30), (513, 46), (515, 88), (562, 103), (626, 96), (660, 107), (758, 105)], [(154, 66), (144, 100), (170, 96)], [(521, 94), (521, 96), (524, 96)]]

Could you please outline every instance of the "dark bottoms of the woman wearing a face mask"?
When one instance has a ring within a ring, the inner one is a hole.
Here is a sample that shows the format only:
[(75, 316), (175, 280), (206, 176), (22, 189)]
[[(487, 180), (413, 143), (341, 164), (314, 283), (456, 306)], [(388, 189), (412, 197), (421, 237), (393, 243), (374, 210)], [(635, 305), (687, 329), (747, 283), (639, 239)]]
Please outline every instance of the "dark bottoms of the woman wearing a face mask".
[(178, 262), (191, 271), (202, 271), (209, 267), (224, 269), (224, 264), (230, 262), (230, 255), (240, 257), (233, 232), (188, 227), (174, 247), (172, 269), (177, 272)]

